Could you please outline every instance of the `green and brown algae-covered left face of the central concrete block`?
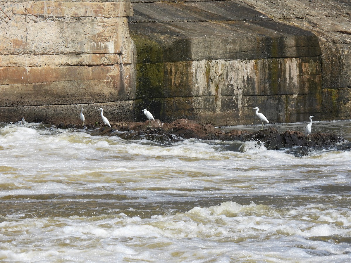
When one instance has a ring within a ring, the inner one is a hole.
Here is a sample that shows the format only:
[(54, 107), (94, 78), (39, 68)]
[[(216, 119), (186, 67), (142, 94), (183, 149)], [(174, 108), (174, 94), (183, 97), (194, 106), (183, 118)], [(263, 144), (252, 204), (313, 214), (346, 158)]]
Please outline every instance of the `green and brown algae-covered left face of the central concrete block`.
[[(191, 62), (165, 62), (164, 56), (169, 59), (170, 50), (146, 36), (132, 33), (131, 37), (137, 50), (135, 118), (145, 119), (141, 112), (143, 108), (162, 121), (172, 121), (178, 116), (194, 118)], [(180, 42), (176, 44), (182, 45)], [(172, 116), (171, 119), (168, 116)]]

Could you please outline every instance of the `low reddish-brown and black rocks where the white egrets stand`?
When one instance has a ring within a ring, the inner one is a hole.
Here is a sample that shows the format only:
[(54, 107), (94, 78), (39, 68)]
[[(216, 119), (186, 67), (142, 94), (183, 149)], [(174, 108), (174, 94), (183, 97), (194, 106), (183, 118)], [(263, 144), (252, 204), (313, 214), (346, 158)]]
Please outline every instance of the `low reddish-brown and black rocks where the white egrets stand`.
[[(125, 140), (148, 139), (151, 141), (177, 142), (184, 139), (220, 140), (220, 141), (257, 141), (262, 142), (267, 149), (282, 149), (296, 146), (327, 147), (344, 142), (345, 138), (333, 133), (311, 134), (307, 141), (300, 131), (287, 130), (279, 133), (275, 128), (258, 130), (253, 133), (247, 130), (222, 131), (211, 124), (199, 124), (192, 120), (178, 119), (172, 123), (159, 120), (151, 122), (120, 122), (112, 123), (112, 127), (103, 128), (102, 123), (87, 125), (85, 128), (94, 130), (94, 135), (119, 136)], [(100, 128), (98, 128), (100, 126)], [(61, 123), (57, 128), (81, 128), (81, 126)], [(118, 131), (119, 133), (116, 133)]]

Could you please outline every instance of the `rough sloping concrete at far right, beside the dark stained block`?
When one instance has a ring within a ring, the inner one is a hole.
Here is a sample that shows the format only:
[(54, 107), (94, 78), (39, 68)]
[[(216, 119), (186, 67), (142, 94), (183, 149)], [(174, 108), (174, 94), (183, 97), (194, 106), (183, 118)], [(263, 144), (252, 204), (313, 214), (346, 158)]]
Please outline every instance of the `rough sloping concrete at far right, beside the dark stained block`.
[(321, 47), (319, 119), (351, 119), (351, 2), (349, 0), (243, 0), (274, 21), (313, 32)]

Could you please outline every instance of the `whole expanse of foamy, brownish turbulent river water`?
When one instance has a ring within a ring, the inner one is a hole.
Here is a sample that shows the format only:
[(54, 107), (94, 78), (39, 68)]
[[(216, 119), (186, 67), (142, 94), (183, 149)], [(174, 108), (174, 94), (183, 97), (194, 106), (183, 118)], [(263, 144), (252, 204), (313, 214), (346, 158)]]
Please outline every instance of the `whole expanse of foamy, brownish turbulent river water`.
[(267, 150), (0, 123), (0, 261), (351, 262), (351, 121), (317, 131), (348, 141)]

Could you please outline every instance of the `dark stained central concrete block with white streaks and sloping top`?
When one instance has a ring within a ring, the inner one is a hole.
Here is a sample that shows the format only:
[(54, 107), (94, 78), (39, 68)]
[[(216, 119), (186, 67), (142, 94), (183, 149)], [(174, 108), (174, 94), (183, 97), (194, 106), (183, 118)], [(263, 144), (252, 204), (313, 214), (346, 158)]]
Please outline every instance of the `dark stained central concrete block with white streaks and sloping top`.
[(217, 125), (321, 113), (318, 38), (237, 1), (137, 2), (136, 96), (162, 120)]

